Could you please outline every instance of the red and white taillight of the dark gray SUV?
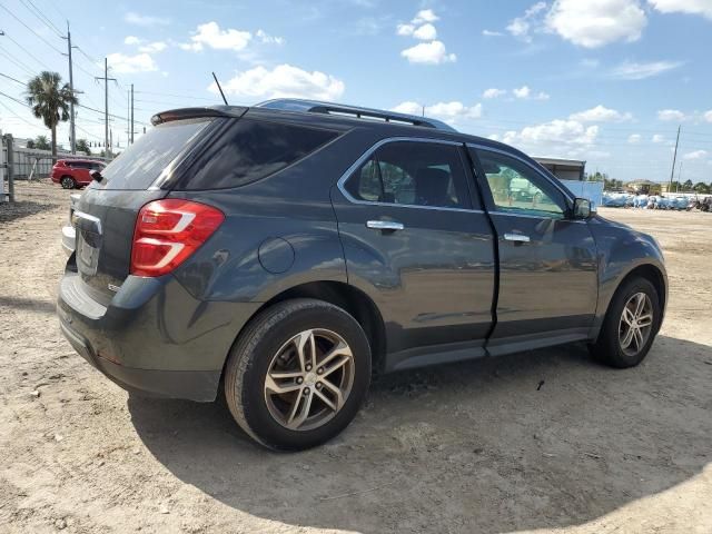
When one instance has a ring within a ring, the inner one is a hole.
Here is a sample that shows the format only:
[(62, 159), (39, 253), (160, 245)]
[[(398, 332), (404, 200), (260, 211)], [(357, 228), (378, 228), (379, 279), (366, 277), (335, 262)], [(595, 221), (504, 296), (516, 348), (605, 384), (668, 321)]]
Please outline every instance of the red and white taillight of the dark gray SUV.
[(222, 220), (219, 209), (190, 200), (167, 198), (147, 204), (134, 230), (131, 274), (170, 273), (200, 248)]

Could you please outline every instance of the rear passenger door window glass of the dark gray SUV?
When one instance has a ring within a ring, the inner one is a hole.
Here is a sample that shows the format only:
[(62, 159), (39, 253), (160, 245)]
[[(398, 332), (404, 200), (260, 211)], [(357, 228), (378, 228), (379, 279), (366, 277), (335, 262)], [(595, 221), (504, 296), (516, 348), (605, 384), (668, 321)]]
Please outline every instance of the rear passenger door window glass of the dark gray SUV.
[(469, 208), (458, 148), (436, 142), (388, 142), (346, 182), (357, 200), (438, 208)]

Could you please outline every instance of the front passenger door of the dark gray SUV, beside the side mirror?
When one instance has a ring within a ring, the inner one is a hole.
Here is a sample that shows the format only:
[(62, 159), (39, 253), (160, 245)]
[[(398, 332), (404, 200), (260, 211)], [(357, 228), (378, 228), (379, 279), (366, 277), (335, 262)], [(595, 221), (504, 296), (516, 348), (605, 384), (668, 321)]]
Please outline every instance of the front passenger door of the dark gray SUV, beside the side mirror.
[(484, 146), (469, 151), (500, 255), (491, 353), (498, 344), (586, 338), (597, 298), (587, 222), (570, 217), (567, 194), (536, 164)]

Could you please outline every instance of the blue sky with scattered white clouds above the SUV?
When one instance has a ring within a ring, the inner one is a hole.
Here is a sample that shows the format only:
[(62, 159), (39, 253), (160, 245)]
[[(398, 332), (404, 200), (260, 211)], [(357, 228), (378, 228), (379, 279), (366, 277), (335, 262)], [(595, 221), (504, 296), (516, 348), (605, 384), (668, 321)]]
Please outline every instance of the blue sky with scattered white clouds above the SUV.
[[(712, 181), (712, 0), (0, 1), (0, 128), (46, 134), (20, 83), (68, 78), (71, 23), (81, 103), (103, 109), (109, 58), (115, 141), (136, 120), (217, 103), (298, 96), (421, 112), (533, 156), (585, 159), (589, 171), (666, 180), (682, 125), (682, 179)], [(56, 28), (53, 28), (56, 27)], [(58, 31), (59, 30), (59, 31)], [(78, 115), (100, 140), (102, 116)], [(142, 125), (137, 129), (140, 131)], [(68, 128), (60, 128), (67, 144)], [(679, 169), (675, 169), (678, 172)]]

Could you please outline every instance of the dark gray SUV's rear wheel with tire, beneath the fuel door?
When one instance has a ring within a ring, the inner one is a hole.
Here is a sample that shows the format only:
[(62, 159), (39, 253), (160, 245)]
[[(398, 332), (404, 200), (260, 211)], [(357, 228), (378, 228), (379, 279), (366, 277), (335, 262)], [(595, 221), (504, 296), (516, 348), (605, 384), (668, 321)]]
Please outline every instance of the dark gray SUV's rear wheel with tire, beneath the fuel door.
[(314, 299), (278, 303), (240, 334), (225, 370), (237, 424), (276, 451), (320, 445), (353, 421), (370, 382), (370, 347), (344, 309)]

